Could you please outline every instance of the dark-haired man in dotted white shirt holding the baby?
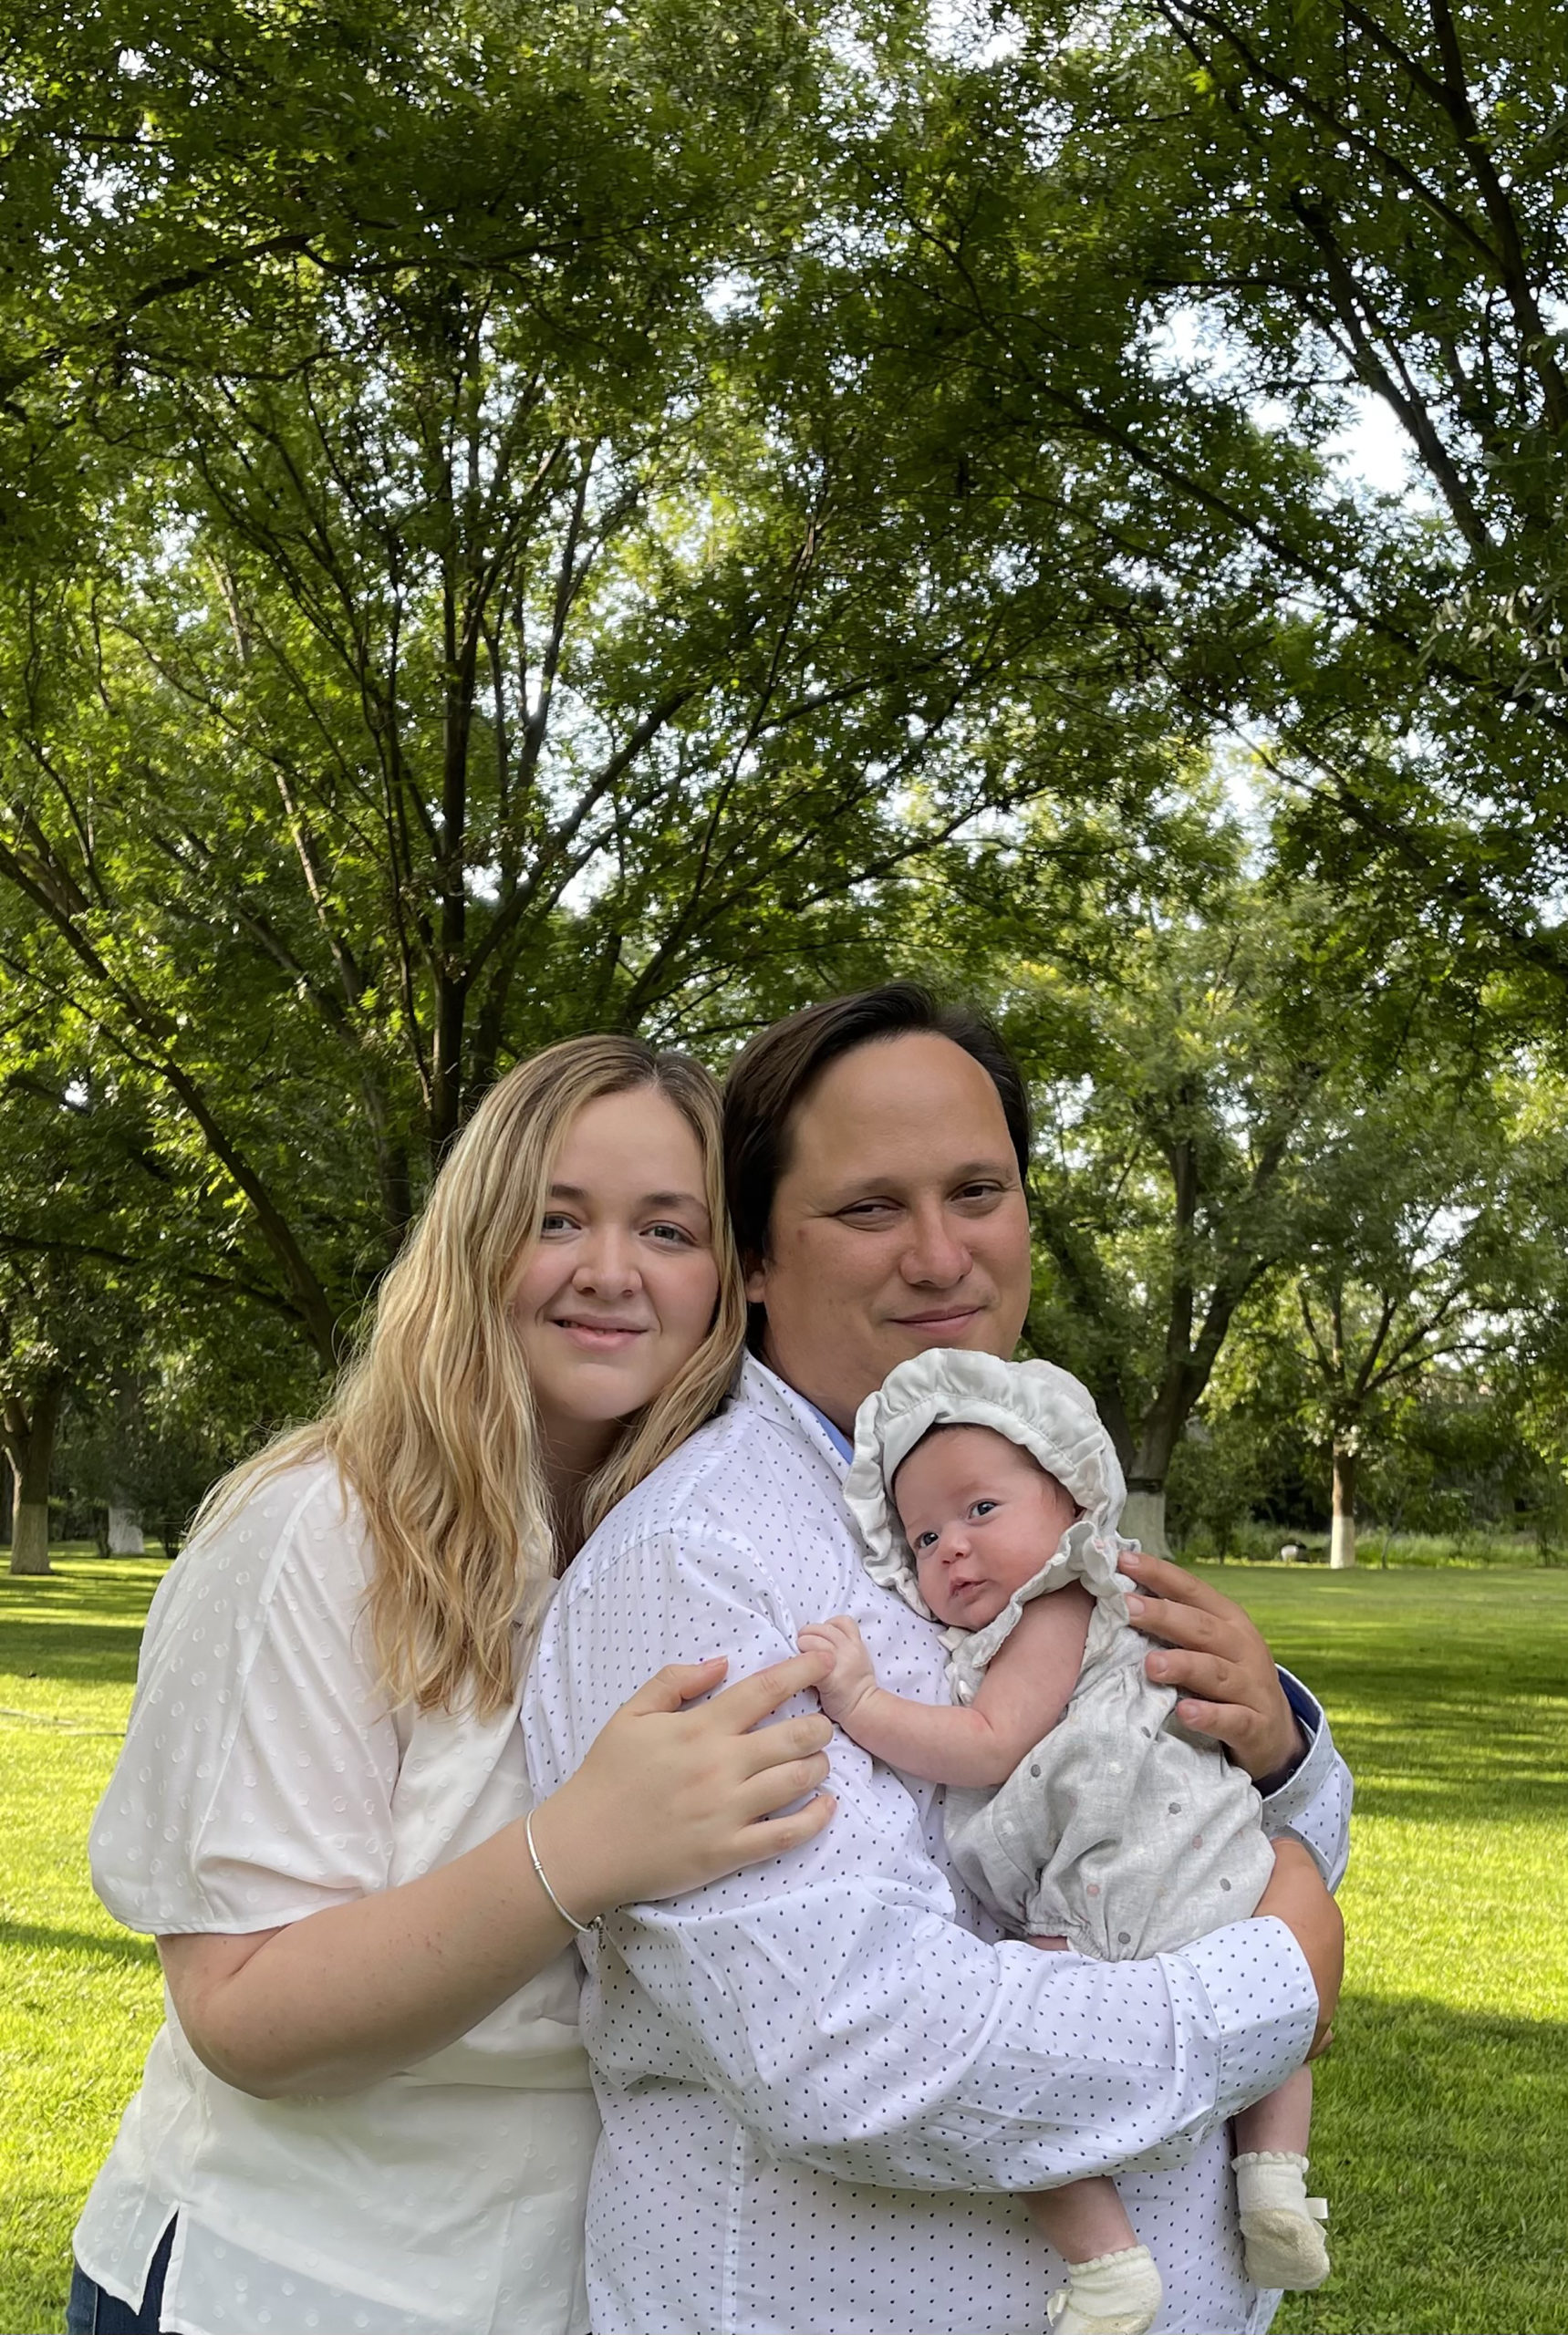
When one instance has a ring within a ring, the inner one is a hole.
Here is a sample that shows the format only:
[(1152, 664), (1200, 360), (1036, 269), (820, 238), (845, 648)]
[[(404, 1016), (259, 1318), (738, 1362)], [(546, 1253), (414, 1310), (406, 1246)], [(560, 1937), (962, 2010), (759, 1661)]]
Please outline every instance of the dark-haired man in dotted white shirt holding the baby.
[[(542, 1791), (650, 1670), (727, 1653), (743, 1677), (825, 1613), (853, 1613), (888, 1688), (939, 1700), (937, 1632), (860, 1564), (846, 1438), (909, 1354), (1012, 1354), (1026, 1158), (1000, 1041), (911, 985), (748, 1046), (727, 1165), (757, 1352), (568, 1574), (523, 1707)], [(1316, 1705), (1227, 1599), (1173, 1567), (1143, 1581), (1182, 1716), (1334, 1880), (1348, 1777)], [(1180, 1954), (1040, 1954), (977, 1936), (928, 1786), (841, 1737), (832, 1768), (839, 1807), (811, 1847), (615, 1915), (589, 1945), (596, 2335), (1038, 2335), (1061, 2272), (1007, 2193), (1089, 2172), (1122, 2174), (1161, 2328), (1260, 2335), (1274, 2298), (1241, 2272), (1224, 2118), (1332, 2015), (1339, 1931), (1316, 1875), (1274, 1884), (1283, 1919)]]

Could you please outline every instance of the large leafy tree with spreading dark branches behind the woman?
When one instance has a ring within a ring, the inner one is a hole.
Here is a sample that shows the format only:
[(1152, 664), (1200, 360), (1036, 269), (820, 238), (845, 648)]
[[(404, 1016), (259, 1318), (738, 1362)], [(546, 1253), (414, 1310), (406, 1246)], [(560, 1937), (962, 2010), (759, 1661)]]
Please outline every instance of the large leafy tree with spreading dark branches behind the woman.
[(1119, 593), (932, 502), (902, 378), (813, 299), (865, 105), (811, 19), (313, 21), (222, 119), (201, 26), (117, 68), (145, 138), (49, 196), (103, 313), (65, 348), (14, 304), (19, 411), (100, 500), (75, 565), (14, 563), (0, 883), (21, 978), (161, 1093), (329, 1359), (507, 1060), (722, 1046), (1147, 712)]

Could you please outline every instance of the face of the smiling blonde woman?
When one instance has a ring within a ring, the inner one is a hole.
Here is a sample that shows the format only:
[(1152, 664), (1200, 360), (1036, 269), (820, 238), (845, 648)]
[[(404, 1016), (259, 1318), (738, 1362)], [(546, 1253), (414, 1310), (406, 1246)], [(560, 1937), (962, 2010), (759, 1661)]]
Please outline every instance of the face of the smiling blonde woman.
[(584, 1102), (512, 1287), (540, 1422), (591, 1464), (708, 1336), (720, 1294), (696, 1135), (657, 1086)]

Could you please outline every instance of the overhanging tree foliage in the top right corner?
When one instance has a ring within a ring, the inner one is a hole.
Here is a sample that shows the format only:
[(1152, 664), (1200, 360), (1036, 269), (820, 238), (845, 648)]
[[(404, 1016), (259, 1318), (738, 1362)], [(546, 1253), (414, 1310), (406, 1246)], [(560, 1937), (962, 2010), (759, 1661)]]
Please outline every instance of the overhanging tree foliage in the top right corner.
[[(1297, 864), (1561, 1016), (1561, 16), (1026, 0), (867, 147), (886, 339), (977, 493), (1119, 570)], [(1362, 404), (1358, 404), (1358, 399)], [(1411, 495), (1346, 472), (1374, 399)]]

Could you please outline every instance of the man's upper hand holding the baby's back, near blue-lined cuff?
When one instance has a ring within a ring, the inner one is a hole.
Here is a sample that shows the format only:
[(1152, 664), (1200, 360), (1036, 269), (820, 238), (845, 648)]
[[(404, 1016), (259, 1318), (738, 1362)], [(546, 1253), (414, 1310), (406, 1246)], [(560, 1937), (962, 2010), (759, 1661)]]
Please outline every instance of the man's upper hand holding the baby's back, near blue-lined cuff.
[(1131, 1620), (1166, 1639), (1143, 1667), (1180, 1691), (1182, 1726), (1222, 1742), (1255, 1784), (1283, 1782), (1306, 1744), (1257, 1623), (1180, 1564), (1143, 1553), (1117, 1562), (1145, 1592), (1126, 1599)]

